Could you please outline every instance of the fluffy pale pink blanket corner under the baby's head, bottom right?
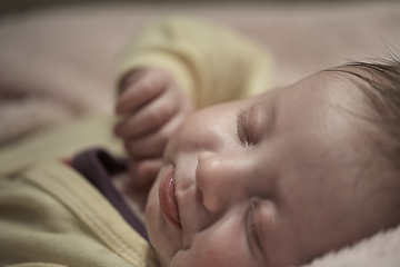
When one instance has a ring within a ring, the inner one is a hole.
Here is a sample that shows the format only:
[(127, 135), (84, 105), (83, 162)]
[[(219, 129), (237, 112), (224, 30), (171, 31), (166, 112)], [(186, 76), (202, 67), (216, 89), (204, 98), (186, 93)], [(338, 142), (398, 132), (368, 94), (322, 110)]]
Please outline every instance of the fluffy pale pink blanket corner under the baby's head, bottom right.
[(331, 251), (302, 267), (381, 267), (400, 266), (400, 225), (372, 237)]

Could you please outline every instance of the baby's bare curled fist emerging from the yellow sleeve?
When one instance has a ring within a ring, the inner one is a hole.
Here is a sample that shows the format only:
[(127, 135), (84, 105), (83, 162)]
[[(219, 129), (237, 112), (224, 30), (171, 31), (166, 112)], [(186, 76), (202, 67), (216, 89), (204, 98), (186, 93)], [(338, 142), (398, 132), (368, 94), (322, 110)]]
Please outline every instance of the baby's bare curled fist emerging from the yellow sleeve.
[(122, 80), (121, 89), (116, 112), (126, 117), (114, 132), (123, 139), (130, 155), (133, 185), (149, 187), (161, 167), (168, 140), (194, 105), (160, 69), (131, 72)]

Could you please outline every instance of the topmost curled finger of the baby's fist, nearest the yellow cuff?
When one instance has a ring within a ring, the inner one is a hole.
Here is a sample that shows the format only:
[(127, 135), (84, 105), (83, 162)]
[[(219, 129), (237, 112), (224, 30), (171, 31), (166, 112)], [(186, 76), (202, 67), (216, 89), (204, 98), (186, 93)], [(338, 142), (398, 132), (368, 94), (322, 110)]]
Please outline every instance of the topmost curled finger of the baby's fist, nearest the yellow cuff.
[[(140, 76), (139, 78), (137, 76)], [(127, 89), (122, 92), (116, 105), (116, 112), (126, 115), (143, 106), (159, 96), (169, 82), (168, 75), (158, 69), (143, 70), (128, 78)]]

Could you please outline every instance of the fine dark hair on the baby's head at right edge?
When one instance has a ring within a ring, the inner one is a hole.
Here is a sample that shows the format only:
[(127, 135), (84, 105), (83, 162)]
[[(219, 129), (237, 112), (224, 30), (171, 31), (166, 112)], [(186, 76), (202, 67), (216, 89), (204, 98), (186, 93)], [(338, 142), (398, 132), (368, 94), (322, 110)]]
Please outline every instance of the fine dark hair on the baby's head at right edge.
[(361, 89), (376, 116), (362, 117), (386, 134), (389, 149), (381, 152), (400, 171), (400, 57), (390, 53), (390, 59), (350, 62), (327, 71), (344, 72), (367, 83)]

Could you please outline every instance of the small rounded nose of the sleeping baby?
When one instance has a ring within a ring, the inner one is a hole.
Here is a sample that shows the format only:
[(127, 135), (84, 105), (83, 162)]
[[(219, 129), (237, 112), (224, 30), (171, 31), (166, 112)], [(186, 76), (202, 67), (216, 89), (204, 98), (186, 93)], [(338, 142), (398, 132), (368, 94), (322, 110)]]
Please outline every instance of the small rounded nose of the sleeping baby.
[(238, 155), (200, 154), (196, 182), (202, 194), (203, 206), (211, 212), (219, 212), (243, 199), (251, 182), (247, 179), (247, 168)]

